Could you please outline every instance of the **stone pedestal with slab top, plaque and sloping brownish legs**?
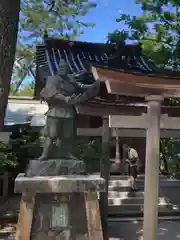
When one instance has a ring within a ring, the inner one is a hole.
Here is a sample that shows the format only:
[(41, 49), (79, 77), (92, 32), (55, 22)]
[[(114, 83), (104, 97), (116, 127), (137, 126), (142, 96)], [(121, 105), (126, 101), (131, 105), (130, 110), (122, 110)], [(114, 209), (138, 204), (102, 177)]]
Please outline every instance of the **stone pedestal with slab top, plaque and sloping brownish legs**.
[(97, 176), (19, 174), (15, 192), (22, 193), (16, 240), (103, 240)]

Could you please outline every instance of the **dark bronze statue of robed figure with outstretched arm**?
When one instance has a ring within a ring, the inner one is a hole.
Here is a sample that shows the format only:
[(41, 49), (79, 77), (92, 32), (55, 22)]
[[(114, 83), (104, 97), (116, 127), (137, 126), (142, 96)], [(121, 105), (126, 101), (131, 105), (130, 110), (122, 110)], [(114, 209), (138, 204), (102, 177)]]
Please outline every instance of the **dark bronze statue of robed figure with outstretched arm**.
[[(82, 84), (68, 74), (68, 66), (62, 62), (56, 76), (48, 77), (41, 97), (48, 104), (44, 129), (44, 147), (39, 160), (53, 157), (74, 159), (73, 143), (76, 136), (75, 105), (97, 95), (100, 83)], [(52, 150), (58, 149), (58, 156)], [(53, 152), (53, 154), (51, 154)]]

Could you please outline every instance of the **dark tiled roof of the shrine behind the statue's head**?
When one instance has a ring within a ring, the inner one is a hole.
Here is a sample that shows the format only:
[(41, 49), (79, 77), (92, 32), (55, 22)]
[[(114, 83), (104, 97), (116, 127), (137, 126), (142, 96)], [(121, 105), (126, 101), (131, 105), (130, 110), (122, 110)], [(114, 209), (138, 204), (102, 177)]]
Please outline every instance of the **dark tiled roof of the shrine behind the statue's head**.
[(152, 72), (141, 54), (140, 45), (99, 44), (47, 39), (37, 46), (37, 65), (43, 78), (57, 73), (61, 60), (67, 62), (70, 73), (87, 72), (88, 63), (120, 71)]

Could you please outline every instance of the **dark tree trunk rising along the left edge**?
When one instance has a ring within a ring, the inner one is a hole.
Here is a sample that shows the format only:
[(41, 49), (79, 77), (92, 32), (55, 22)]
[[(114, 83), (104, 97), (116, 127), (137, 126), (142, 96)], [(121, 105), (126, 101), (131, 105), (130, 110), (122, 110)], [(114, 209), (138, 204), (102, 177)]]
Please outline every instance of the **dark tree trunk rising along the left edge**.
[(0, 0), (0, 131), (8, 102), (14, 64), (20, 0)]

